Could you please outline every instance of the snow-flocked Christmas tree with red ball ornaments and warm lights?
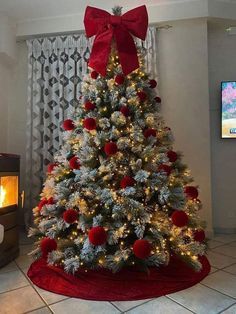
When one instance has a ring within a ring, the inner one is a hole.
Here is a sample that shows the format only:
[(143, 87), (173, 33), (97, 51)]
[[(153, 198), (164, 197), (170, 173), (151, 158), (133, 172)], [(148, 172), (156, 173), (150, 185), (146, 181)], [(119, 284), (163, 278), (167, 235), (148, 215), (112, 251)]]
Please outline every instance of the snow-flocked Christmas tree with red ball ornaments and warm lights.
[(32, 254), (66, 272), (146, 269), (172, 255), (201, 269), (198, 190), (158, 113), (144, 53), (138, 49), (140, 67), (125, 76), (113, 42), (106, 75), (89, 70), (63, 123), (64, 145), (48, 167), (30, 235), (38, 238)]

